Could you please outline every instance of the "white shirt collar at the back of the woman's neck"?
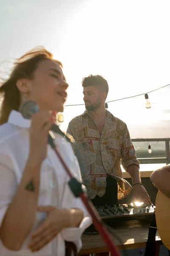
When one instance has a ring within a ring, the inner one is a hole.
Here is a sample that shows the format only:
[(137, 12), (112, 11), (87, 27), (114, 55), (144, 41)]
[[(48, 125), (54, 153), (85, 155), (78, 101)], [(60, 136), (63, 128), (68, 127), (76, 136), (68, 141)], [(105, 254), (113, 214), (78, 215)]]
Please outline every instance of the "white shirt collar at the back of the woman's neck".
[(8, 123), (19, 126), (21, 128), (30, 128), (31, 120), (25, 119), (18, 111), (12, 110), (8, 117)]

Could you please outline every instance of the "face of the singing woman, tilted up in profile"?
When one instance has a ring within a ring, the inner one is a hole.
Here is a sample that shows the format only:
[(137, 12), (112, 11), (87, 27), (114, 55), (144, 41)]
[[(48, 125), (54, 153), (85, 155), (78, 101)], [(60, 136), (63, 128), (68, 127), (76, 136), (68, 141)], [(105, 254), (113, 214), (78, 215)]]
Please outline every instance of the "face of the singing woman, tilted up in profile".
[(40, 109), (57, 112), (63, 110), (68, 84), (57, 62), (41, 61), (33, 79), (28, 80), (28, 88), (28, 100), (37, 102)]

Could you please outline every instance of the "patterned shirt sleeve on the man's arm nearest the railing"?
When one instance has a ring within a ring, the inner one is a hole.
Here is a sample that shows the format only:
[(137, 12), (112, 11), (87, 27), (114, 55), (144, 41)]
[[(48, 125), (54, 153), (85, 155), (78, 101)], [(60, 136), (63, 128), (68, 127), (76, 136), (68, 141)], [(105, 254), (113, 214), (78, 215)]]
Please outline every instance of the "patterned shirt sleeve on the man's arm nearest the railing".
[(123, 139), (122, 139), (121, 158), (122, 158), (122, 166), (123, 166), (123, 169), (125, 169), (125, 171), (127, 171), (127, 167), (130, 166), (131, 164), (136, 164), (139, 167), (139, 161), (136, 158), (136, 151), (130, 139), (130, 134), (126, 124), (125, 124), (125, 132), (123, 134)]

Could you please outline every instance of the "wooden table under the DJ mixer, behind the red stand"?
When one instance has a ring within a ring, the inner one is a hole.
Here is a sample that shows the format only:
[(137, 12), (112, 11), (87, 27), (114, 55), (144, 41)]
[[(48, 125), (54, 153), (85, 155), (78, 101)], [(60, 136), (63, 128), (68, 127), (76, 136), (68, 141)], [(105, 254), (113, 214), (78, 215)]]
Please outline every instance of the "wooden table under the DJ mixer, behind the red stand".
[[(119, 221), (118, 219), (115, 219), (112, 227), (116, 230), (119, 237), (121, 237), (125, 249), (133, 249), (146, 246), (149, 224), (150, 220), (146, 219), (129, 221)], [(111, 236), (114, 244), (117, 245), (119, 250), (122, 250), (122, 244), (120, 244), (113, 235)], [(83, 234), (82, 244), (82, 250), (79, 252), (79, 255), (89, 255), (90, 253), (104, 253), (109, 251), (98, 234)], [(158, 233), (156, 233), (156, 255), (159, 255), (159, 247), (161, 244), (161, 239)]]

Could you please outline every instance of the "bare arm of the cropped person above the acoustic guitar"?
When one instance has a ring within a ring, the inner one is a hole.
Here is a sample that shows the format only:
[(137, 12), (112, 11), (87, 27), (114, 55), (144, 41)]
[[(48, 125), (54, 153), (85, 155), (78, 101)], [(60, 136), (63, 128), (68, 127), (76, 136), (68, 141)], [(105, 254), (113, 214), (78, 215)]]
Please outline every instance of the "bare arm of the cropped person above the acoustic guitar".
[(170, 164), (153, 172), (150, 181), (161, 193), (170, 198)]

